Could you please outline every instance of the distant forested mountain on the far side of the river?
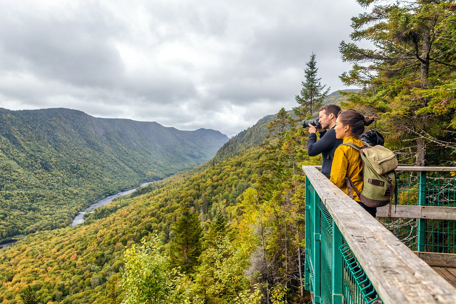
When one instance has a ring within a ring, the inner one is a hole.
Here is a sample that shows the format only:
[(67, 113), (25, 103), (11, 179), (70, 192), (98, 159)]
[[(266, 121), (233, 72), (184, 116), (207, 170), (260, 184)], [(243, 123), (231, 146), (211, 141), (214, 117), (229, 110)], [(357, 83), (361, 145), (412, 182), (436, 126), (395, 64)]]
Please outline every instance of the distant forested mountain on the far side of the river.
[(0, 108), (0, 239), (65, 227), (90, 202), (210, 160), (218, 131)]

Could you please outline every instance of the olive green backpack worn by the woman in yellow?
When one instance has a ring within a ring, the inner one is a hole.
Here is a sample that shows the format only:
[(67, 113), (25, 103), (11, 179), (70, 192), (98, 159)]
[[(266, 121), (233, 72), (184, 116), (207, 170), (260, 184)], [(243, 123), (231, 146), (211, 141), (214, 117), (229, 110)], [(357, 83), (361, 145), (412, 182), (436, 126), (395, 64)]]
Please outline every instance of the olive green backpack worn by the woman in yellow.
[(345, 181), (348, 193), (353, 198), (352, 189), (358, 194), (361, 202), (369, 207), (382, 207), (389, 204), (388, 216), (391, 216), (391, 203), (394, 196), (398, 198), (398, 185), (395, 169), (398, 160), (393, 151), (381, 145), (358, 147), (353, 143), (343, 143), (357, 149), (363, 162), (363, 189), (358, 189), (348, 176)]

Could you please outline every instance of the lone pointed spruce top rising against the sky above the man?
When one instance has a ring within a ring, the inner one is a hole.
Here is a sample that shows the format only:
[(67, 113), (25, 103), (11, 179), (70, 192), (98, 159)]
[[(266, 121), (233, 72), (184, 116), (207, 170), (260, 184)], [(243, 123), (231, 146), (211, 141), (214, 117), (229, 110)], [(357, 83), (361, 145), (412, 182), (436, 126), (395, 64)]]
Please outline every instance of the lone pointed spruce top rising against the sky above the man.
[(301, 107), (293, 108), (295, 114), (302, 120), (307, 112), (311, 115), (314, 111), (321, 107), (323, 99), (329, 93), (331, 88), (325, 90), (326, 85), (321, 85), (321, 78), (317, 78), (318, 67), (316, 67), (316, 54), (312, 53), (311, 60), (306, 62), (306, 68), (304, 69), (306, 81), (302, 83), (301, 93), (296, 95), (296, 102)]

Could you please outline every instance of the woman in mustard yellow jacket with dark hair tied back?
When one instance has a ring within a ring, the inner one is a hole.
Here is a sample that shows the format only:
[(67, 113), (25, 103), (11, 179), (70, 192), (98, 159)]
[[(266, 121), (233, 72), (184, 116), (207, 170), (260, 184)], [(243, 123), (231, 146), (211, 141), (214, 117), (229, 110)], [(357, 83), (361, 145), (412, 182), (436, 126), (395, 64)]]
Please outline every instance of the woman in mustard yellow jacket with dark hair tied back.
[[(372, 117), (364, 117), (353, 109), (342, 111), (337, 116), (336, 126), (334, 128), (336, 138), (343, 139), (343, 143), (349, 142), (356, 144), (358, 147), (363, 147), (364, 144), (359, 137), (364, 133), (364, 126), (372, 124), (373, 120)], [(359, 191), (363, 190), (363, 164), (359, 151), (347, 145), (340, 145), (334, 152), (330, 180), (348, 195), (345, 176), (348, 176), (352, 180)], [(356, 194), (356, 191), (352, 191), (352, 195), (353, 200), (357, 201), (369, 214), (375, 217), (377, 208), (364, 205), (358, 194)]]

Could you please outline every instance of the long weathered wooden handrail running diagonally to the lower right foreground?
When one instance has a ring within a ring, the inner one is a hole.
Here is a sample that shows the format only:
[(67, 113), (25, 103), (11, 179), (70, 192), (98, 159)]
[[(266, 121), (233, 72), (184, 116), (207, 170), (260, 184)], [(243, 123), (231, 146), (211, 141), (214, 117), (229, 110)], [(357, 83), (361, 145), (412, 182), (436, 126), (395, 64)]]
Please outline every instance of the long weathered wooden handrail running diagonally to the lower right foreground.
[(456, 289), (358, 203), (314, 166), (303, 170), (383, 303), (456, 303)]

